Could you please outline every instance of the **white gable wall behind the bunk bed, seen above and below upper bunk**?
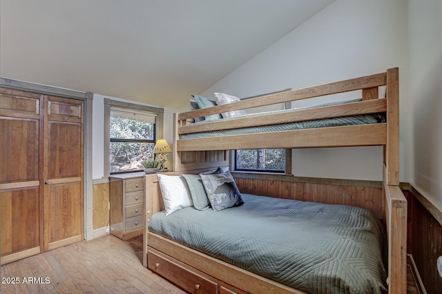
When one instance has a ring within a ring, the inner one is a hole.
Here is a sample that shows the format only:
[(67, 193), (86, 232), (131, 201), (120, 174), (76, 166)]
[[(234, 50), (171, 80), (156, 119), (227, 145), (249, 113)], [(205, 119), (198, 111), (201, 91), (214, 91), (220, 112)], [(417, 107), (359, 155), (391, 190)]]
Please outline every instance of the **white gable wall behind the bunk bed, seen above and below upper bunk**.
[[(385, 72), (399, 67), (401, 116), (407, 97), (407, 2), (338, 0), (202, 93), (239, 97)], [(402, 120), (401, 180), (408, 178), (409, 122)], [(381, 147), (296, 149), (295, 176), (382, 180)]]

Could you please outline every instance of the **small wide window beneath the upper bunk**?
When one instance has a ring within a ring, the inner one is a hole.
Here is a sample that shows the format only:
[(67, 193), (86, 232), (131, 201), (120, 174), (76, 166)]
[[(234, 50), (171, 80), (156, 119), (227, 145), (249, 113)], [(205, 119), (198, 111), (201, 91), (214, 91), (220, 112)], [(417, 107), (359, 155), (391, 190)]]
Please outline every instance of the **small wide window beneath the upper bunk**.
[(286, 149), (244, 149), (235, 151), (236, 171), (266, 171), (288, 173), (286, 169), (287, 156), (290, 150)]

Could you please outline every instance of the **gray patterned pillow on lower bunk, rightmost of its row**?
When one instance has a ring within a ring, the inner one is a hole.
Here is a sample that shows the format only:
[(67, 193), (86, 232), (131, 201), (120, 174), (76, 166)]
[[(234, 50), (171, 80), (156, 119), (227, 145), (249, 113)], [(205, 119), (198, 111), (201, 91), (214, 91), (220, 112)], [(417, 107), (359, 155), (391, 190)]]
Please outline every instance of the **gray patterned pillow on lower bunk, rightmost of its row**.
[(244, 204), (240, 190), (236, 186), (230, 171), (222, 174), (201, 174), (200, 176), (214, 211)]

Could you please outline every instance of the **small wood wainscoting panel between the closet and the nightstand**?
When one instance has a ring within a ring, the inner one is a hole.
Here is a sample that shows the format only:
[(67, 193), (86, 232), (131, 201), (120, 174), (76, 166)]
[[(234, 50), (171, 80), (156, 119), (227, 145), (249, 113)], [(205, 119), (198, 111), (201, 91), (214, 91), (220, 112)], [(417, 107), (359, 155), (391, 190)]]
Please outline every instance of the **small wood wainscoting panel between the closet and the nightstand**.
[(93, 185), (93, 228), (101, 229), (109, 223), (109, 194), (110, 185), (108, 182)]

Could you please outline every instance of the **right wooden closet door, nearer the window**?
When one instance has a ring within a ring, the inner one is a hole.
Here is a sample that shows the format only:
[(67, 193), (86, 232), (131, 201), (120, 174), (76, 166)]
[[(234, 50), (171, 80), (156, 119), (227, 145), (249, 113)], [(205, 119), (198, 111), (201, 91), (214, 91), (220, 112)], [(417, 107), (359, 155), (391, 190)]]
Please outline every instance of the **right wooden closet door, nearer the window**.
[(44, 250), (84, 239), (83, 101), (44, 97)]

